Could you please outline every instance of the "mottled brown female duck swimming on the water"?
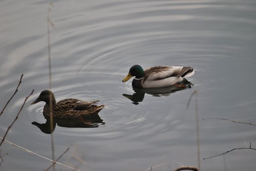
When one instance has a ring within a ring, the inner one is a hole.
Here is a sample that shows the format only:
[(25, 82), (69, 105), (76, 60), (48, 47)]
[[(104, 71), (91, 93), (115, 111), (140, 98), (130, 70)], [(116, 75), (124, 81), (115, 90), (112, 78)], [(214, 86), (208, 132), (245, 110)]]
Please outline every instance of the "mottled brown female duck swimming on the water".
[(81, 117), (92, 117), (96, 115), (104, 105), (95, 105), (98, 100), (93, 102), (85, 102), (78, 99), (64, 99), (56, 103), (53, 92), (44, 90), (39, 97), (31, 103), (31, 105), (44, 101), (46, 105), (43, 114), (50, 116), (50, 108), (52, 107), (53, 118), (75, 119)]

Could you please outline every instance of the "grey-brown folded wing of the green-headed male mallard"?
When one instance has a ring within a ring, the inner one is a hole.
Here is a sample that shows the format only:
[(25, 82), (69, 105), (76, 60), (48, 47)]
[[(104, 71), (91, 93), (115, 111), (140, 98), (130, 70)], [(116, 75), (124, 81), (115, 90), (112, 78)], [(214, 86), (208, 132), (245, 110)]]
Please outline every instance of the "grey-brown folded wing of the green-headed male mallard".
[(162, 80), (174, 77), (182, 71), (183, 66), (154, 66), (146, 69), (145, 79), (147, 81)]

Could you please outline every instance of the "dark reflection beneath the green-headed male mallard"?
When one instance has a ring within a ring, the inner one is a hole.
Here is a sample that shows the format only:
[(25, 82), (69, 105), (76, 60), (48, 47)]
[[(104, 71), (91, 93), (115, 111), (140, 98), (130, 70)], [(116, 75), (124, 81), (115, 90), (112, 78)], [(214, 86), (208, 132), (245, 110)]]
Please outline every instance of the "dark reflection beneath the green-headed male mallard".
[(179, 83), (178, 85), (182, 85), (181, 87), (176, 85), (166, 86), (166, 87), (159, 87), (159, 88), (134, 88), (133, 90), (135, 93), (132, 95), (130, 94), (123, 94), (124, 97), (133, 101), (133, 104), (139, 105), (139, 102), (142, 102), (145, 96), (145, 93), (151, 94), (152, 96), (160, 97), (160, 96), (169, 96), (171, 93), (176, 91), (181, 91), (187, 88), (191, 88), (193, 86), (192, 83), (187, 81), (186, 79), (183, 82)]

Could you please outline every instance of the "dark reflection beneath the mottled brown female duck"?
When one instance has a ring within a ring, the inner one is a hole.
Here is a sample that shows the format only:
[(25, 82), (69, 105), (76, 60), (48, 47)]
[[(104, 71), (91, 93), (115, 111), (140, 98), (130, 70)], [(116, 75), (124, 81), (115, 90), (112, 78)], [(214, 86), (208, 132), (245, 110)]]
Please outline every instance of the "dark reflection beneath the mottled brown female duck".
[(92, 117), (84, 117), (79, 119), (57, 119), (53, 118), (53, 129), (50, 128), (50, 117), (44, 115), (46, 118), (45, 124), (40, 124), (38, 122), (32, 122), (32, 125), (37, 126), (42, 132), (50, 134), (54, 131), (56, 125), (59, 127), (66, 128), (96, 128), (99, 125), (104, 125), (105, 123), (99, 117), (99, 115), (93, 115)]

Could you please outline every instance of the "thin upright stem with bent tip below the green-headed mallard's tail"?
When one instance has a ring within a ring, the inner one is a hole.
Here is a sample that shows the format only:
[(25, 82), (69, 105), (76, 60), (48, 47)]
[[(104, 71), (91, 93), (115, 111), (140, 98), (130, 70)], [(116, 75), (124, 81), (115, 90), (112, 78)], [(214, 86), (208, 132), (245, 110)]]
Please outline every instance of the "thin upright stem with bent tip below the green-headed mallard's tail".
[(197, 90), (195, 90), (189, 97), (186, 108), (189, 107), (192, 97), (195, 95), (195, 113), (196, 113), (196, 137), (197, 137), (197, 167), (201, 171), (200, 163), (200, 135), (199, 135), (199, 117), (198, 117), (198, 103), (197, 103)]

